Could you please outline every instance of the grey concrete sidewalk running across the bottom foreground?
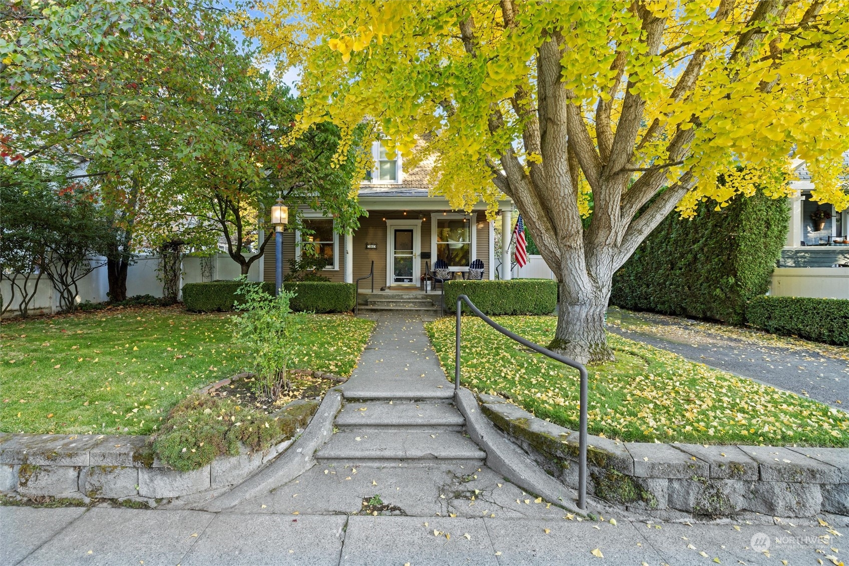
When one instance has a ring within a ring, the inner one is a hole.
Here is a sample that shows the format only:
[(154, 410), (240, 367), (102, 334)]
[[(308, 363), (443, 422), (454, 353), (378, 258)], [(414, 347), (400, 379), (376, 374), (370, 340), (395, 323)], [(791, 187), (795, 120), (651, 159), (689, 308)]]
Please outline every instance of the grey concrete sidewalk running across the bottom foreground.
[[(0, 564), (751, 565), (829, 564), (846, 554), (827, 527), (733, 525), (0, 507)], [(758, 533), (768, 557), (751, 547)]]

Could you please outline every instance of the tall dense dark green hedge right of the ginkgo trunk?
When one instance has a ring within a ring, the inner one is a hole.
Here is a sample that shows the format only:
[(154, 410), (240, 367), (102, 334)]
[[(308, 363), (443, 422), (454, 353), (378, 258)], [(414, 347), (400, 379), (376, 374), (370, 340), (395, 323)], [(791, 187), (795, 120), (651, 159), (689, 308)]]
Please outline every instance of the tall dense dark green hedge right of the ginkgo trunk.
[(715, 207), (666, 216), (614, 275), (610, 304), (742, 324), (746, 301), (769, 289), (790, 211), (762, 193)]

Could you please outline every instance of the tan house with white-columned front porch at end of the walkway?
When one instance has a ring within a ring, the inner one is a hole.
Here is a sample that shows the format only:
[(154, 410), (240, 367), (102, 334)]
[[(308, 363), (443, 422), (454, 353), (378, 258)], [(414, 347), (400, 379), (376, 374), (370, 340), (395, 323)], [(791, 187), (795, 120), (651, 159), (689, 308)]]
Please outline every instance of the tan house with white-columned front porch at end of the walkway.
[[(385, 148), (374, 143), (374, 170), (361, 183), (360, 205), (368, 211), (360, 226), (349, 233), (334, 229), (334, 220), (315, 210), (304, 210), (306, 223), (314, 232), (284, 232), (284, 276), (288, 260), (301, 255), (306, 245), (329, 260), (323, 276), (331, 281), (354, 283), (371, 271), (374, 262), (374, 289), (419, 288), (426, 268), (445, 260), (453, 277), (463, 277), (469, 263), (481, 260), (483, 278), (497, 278), (499, 266), (509, 259), (496, 257), (495, 221), (486, 220), (486, 205), (478, 203), (471, 212), (452, 210), (447, 199), (430, 195), (428, 177), (433, 160), (422, 160), (406, 171), (400, 154), (389, 159)], [(510, 232), (513, 202), (504, 197), (498, 203), (501, 221)], [(273, 251), (263, 258), (263, 277), (274, 281), (276, 263)], [(509, 278), (498, 273), (499, 278)], [(369, 285), (370, 283), (365, 283)]]

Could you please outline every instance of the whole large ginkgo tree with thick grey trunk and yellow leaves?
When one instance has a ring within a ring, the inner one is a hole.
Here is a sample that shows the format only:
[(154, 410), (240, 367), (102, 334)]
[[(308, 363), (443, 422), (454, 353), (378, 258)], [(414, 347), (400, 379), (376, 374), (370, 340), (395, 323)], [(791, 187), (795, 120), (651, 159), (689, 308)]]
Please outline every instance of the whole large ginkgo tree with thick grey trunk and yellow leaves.
[(499, 191), (514, 200), (559, 280), (551, 346), (579, 361), (612, 358), (611, 277), (672, 210), (784, 197), (794, 148), (812, 199), (849, 205), (841, 0), (256, 8), (248, 34), (301, 69), (301, 129), (366, 120), (404, 155), (425, 141), (453, 206), (484, 199), (492, 214)]

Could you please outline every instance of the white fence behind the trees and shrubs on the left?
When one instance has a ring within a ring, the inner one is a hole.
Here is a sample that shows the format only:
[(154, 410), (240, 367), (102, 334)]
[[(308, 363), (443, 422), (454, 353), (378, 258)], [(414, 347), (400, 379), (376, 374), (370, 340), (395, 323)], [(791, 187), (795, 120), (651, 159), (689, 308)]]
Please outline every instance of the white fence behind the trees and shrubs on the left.
[[(199, 283), (201, 281), (210, 281), (212, 279), (235, 279), (239, 277), (239, 264), (227, 254), (214, 255), (207, 260), (207, 264), (202, 266), (201, 263), (205, 258), (186, 256), (183, 258), (183, 273), (180, 277), (180, 289), (182, 297), (182, 289), (185, 283)], [(108, 299), (106, 293), (109, 291), (109, 278), (106, 274), (106, 261), (102, 257), (93, 258), (93, 265), (98, 265), (93, 272), (83, 277), (77, 284), (79, 294), (76, 295), (76, 302), (82, 303), (91, 301), (93, 303), (102, 303)], [(159, 266), (159, 257), (156, 255), (139, 255), (136, 262), (129, 267), (127, 271), (127, 296), (132, 297), (137, 294), (152, 294), (155, 297), (162, 296), (162, 283), (157, 279), (157, 267)], [(205, 267), (205, 272), (202, 269)], [(35, 277), (31, 277), (35, 279)], [(262, 280), (262, 258), (254, 261), (248, 272), (250, 281)], [(28, 289), (32, 289), (34, 281), (28, 285)], [(12, 297), (12, 284), (5, 277), (0, 278), (0, 293), (3, 294), (3, 306), (8, 304)], [(6, 311), (4, 317), (14, 317), (18, 312), (18, 303), (20, 302), (20, 293), (15, 293), (13, 305)], [(42, 276), (38, 283), (36, 296), (30, 302), (30, 313), (53, 313), (59, 311), (59, 293), (53, 289), (47, 276)]]

